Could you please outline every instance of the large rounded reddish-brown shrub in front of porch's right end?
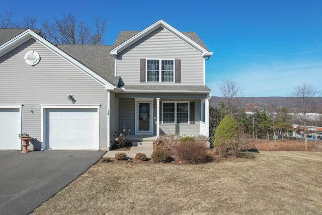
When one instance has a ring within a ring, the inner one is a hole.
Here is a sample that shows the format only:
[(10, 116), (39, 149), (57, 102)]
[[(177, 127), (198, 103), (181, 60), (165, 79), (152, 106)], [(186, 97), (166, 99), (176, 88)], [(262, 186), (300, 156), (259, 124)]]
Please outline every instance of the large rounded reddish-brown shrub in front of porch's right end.
[(187, 163), (203, 163), (207, 159), (207, 148), (202, 142), (181, 142), (176, 147), (176, 153), (180, 160)]

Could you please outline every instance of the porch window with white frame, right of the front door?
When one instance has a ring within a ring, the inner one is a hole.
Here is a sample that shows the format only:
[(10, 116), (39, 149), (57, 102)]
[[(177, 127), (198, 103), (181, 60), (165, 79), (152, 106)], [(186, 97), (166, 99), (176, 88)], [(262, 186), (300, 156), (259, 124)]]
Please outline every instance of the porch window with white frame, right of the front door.
[(188, 102), (163, 102), (163, 124), (188, 124)]

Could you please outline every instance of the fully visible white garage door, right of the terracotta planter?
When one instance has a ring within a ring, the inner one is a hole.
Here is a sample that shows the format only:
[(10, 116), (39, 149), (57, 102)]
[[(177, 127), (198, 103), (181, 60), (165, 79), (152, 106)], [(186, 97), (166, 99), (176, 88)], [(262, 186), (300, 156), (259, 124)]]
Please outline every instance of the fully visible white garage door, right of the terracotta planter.
[(98, 150), (98, 109), (47, 109), (46, 149)]

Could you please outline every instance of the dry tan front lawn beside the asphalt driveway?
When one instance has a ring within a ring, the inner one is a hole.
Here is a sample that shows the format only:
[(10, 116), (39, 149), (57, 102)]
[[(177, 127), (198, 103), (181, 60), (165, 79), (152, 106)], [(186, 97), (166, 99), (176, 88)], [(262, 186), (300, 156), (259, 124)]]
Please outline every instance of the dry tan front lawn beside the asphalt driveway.
[(97, 163), (33, 214), (319, 214), (322, 153), (198, 165)]

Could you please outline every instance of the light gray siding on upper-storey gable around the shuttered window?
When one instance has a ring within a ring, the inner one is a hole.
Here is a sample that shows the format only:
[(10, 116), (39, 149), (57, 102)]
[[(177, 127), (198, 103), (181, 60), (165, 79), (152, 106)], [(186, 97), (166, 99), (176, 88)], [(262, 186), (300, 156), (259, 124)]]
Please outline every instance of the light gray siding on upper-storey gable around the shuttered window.
[(117, 76), (122, 78), (125, 85), (141, 84), (141, 58), (181, 59), (181, 83), (173, 84), (204, 84), (202, 55), (163, 28), (156, 29), (118, 54)]

